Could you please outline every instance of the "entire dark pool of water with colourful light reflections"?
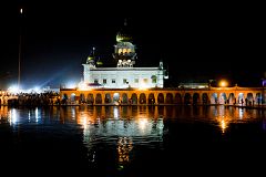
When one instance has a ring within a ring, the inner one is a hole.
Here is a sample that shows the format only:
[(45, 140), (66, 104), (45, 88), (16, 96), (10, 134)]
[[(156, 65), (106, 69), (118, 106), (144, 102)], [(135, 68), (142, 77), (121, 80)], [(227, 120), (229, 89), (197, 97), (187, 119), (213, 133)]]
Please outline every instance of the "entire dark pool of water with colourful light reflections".
[(265, 113), (225, 106), (2, 106), (0, 174), (260, 174)]

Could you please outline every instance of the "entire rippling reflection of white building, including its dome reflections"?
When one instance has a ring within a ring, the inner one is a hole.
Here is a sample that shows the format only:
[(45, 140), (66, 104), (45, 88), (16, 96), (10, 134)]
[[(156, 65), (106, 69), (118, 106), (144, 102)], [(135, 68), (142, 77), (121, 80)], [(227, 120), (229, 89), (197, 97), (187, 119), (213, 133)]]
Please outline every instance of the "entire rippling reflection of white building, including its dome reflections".
[[(151, 146), (163, 143), (163, 115), (155, 107), (146, 106), (89, 106), (76, 112), (76, 122), (83, 127), (83, 143), (88, 158), (98, 163), (101, 153), (99, 143), (116, 154), (119, 170), (134, 157), (134, 146)], [(93, 113), (93, 114), (92, 114)], [(160, 147), (160, 146), (158, 146)]]

